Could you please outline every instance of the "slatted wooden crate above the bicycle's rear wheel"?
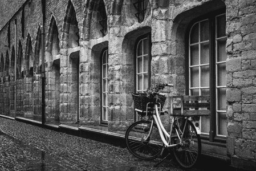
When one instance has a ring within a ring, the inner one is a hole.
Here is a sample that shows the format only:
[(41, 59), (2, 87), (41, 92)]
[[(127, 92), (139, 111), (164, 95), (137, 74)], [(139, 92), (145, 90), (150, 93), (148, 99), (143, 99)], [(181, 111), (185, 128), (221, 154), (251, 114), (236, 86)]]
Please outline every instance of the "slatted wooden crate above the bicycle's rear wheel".
[(208, 116), (210, 115), (210, 96), (171, 96), (170, 115)]

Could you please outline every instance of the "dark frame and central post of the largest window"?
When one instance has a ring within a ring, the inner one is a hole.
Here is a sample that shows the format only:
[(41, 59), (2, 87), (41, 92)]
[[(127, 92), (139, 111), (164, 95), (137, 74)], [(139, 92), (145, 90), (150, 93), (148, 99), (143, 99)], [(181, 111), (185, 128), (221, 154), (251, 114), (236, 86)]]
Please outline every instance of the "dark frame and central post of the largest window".
[[(204, 21), (206, 19), (209, 20), (209, 78), (212, 78), (209, 80), (209, 92), (210, 92), (210, 110), (213, 115), (210, 115), (210, 131), (209, 135), (202, 134), (202, 139), (209, 140), (211, 142), (213, 141), (220, 141), (220, 142), (226, 142), (226, 136), (220, 136), (217, 135), (217, 109), (216, 109), (216, 100), (217, 100), (217, 94), (216, 94), (216, 84), (217, 84), (217, 75), (216, 75), (216, 17), (219, 15), (226, 15), (226, 9), (222, 8), (220, 10), (213, 11), (211, 13), (208, 13), (204, 16), (198, 17), (196, 19), (193, 19), (187, 29), (186, 29), (186, 35), (185, 35), (185, 94), (189, 95), (190, 91), (190, 74), (189, 74), (189, 58), (190, 58), (190, 30), (197, 22)], [(200, 79), (200, 78), (199, 78)], [(214, 86), (211, 86), (214, 85)], [(201, 86), (201, 85), (200, 85)]]

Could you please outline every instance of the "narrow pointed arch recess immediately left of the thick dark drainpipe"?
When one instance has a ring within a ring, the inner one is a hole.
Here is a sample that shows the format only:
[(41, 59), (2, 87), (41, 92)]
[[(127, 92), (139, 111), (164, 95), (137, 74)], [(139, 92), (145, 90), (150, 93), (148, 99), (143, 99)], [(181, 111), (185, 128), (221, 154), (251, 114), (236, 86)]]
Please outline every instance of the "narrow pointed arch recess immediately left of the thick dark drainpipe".
[(39, 74), (40, 70), (40, 64), (42, 61), (40, 60), (40, 54), (42, 53), (41, 50), (41, 29), (40, 26), (38, 26), (38, 31), (36, 32), (36, 38), (35, 38), (35, 57), (34, 57), (34, 63), (33, 67), (36, 74)]

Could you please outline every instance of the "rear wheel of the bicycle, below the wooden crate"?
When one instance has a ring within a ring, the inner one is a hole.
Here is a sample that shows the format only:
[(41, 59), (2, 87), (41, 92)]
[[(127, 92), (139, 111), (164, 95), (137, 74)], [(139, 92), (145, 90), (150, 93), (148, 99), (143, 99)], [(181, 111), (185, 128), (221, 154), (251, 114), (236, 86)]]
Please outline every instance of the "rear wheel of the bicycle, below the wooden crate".
[[(183, 131), (184, 124), (181, 125), (181, 131)], [(173, 141), (177, 144), (179, 139), (174, 137)], [(191, 121), (188, 120), (185, 125), (182, 145), (174, 147), (173, 153), (178, 164), (180, 164), (182, 168), (192, 168), (198, 161), (198, 158), (201, 155), (201, 139)]]

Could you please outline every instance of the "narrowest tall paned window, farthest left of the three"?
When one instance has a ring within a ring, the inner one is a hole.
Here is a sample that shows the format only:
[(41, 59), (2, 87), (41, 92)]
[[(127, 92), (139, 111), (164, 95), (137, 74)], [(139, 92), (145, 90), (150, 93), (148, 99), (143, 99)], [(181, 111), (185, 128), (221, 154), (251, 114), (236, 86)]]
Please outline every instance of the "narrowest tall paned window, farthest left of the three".
[(108, 50), (101, 55), (101, 121), (108, 121)]

